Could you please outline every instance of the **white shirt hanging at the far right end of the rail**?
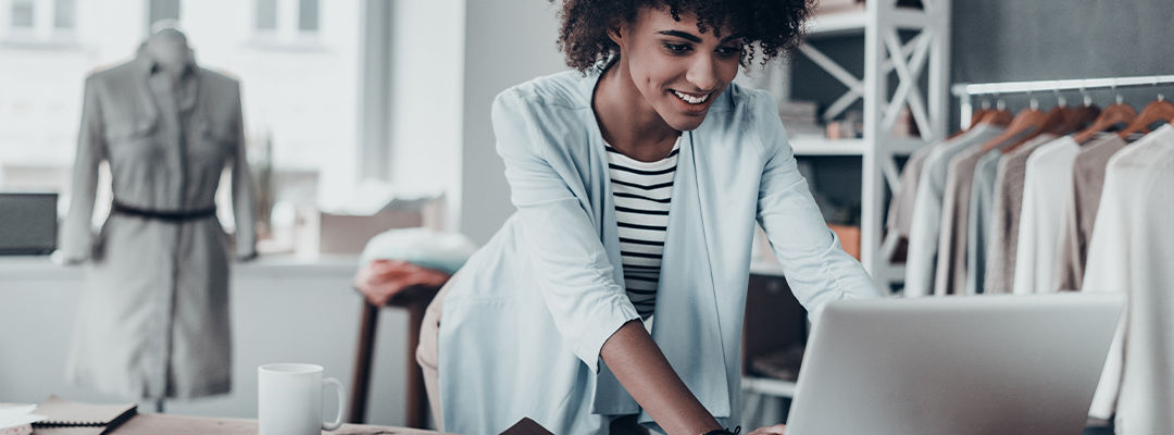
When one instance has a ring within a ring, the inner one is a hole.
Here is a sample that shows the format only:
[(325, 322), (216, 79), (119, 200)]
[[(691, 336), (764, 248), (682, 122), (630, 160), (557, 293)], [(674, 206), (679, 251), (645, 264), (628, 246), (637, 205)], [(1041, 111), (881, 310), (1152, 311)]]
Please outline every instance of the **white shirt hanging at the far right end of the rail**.
[(1174, 214), (1172, 167), (1170, 126), (1113, 155), (1088, 246), (1082, 292), (1125, 292), (1129, 301), (1088, 410), (1098, 419), (1115, 410), (1119, 434), (1174, 430), (1168, 411), (1174, 408), (1168, 394), (1174, 361), (1160, 357), (1174, 349), (1174, 226), (1167, 221)]

